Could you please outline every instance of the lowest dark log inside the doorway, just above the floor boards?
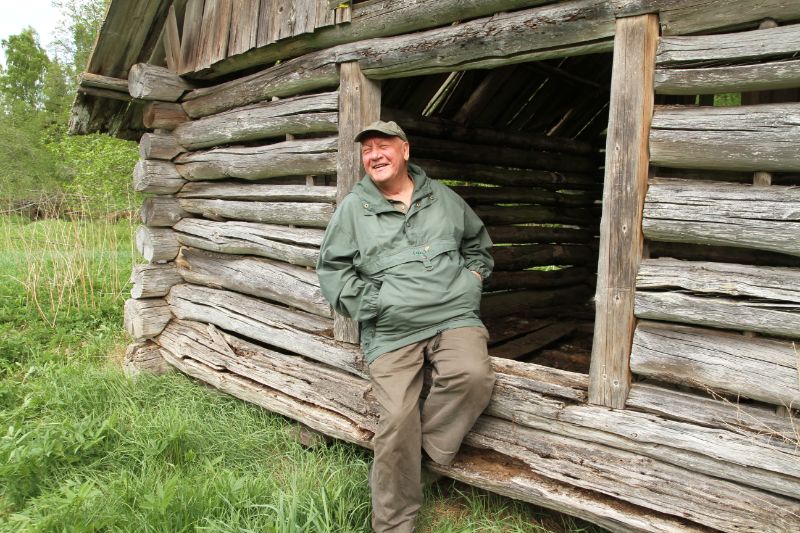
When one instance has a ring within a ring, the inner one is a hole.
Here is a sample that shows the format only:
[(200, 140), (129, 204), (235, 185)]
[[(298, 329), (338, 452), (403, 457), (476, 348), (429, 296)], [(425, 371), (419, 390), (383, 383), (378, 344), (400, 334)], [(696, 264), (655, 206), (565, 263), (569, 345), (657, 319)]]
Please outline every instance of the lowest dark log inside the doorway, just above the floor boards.
[[(507, 316), (515, 313), (530, 314), (537, 308), (545, 308), (547, 313), (552, 307), (563, 307), (576, 302), (585, 302), (591, 296), (591, 289), (586, 285), (560, 287), (550, 290), (524, 290), (488, 293), (481, 301), (481, 315), (485, 317)], [(562, 309), (559, 309), (561, 311)]]

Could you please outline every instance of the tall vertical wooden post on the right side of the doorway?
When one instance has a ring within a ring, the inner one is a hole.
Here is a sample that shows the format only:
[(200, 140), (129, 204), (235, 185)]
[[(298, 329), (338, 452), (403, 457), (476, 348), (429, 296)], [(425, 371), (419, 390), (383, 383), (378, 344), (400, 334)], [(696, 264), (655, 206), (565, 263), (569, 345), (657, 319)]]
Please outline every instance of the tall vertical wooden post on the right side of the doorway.
[(614, 408), (625, 406), (630, 389), (634, 289), (644, 243), (642, 208), (657, 44), (656, 15), (617, 20), (589, 369), (589, 402)]

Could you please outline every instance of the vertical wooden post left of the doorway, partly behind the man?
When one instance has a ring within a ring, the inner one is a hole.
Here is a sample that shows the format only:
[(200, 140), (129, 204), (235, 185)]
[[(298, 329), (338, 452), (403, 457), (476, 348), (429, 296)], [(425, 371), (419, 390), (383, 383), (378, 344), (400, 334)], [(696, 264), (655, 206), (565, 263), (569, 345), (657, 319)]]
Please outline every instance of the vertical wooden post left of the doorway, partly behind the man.
[[(339, 153), (336, 158), (336, 202), (364, 175), (361, 152), (353, 138), (381, 116), (380, 82), (368, 80), (357, 62), (343, 63), (339, 71)], [(333, 317), (336, 340), (357, 343), (358, 324), (338, 314)]]

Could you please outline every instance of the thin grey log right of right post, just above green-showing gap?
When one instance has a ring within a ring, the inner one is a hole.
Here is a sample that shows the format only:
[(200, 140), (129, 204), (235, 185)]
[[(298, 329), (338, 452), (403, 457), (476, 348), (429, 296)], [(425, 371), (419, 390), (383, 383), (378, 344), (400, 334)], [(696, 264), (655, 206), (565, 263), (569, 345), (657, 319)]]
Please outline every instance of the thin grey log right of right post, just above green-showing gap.
[(757, 65), (656, 69), (658, 94), (719, 94), (788, 89), (800, 85), (800, 61)]

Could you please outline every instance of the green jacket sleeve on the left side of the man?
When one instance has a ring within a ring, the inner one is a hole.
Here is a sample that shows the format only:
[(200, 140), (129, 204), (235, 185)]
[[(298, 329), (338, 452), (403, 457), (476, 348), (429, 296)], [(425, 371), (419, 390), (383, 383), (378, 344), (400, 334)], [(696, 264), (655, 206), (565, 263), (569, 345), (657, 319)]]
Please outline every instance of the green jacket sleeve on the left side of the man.
[(353, 260), (357, 255), (356, 240), (334, 215), (317, 261), (320, 288), (336, 312), (363, 322), (378, 314), (378, 287), (356, 272)]

